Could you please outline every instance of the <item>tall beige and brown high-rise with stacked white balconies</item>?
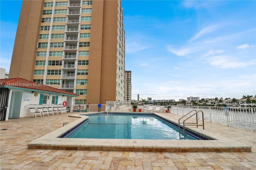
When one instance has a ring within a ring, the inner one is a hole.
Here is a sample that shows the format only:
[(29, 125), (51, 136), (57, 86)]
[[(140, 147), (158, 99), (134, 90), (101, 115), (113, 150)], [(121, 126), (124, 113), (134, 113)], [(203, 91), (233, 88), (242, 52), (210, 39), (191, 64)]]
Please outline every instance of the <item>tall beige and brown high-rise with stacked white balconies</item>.
[(9, 78), (79, 94), (73, 104), (124, 101), (121, 0), (24, 0)]

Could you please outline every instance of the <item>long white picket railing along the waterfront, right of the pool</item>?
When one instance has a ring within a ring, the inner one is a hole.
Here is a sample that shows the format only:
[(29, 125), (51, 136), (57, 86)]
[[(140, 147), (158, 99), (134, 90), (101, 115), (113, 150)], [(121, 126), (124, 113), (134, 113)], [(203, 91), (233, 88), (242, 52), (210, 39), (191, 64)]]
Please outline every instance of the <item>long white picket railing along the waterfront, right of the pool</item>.
[[(204, 112), (204, 120), (221, 123), (234, 127), (256, 130), (256, 107), (225, 107), (212, 106), (179, 106), (172, 105), (171, 113), (178, 115), (186, 115), (191, 110), (202, 110)], [(202, 119), (202, 117), (199, 117)]]

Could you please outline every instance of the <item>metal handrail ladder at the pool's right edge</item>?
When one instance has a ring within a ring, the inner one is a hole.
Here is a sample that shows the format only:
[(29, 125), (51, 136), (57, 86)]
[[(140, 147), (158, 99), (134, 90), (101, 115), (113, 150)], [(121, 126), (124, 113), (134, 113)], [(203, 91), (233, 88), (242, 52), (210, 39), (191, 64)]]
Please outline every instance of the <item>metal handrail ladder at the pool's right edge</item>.
[[(180, 119), (186, 117), (187, 115), (189, 115), (190, 113), (192, 113), (192, 112), (194, 112), (194, 111), (196, 111), (196, 110), (192, 110), (192, 111), (188, 112), (186, 115), (184, 115), (184, 116), (181, 117)], [(202, 113), (202, 125), (199, 125), (199, 124), (198, 124), (198, 119), (199, 119), (199, 118), (198, 118), (198, 113), (199, 113), (199, 112)], [(194, 115), (196, 115), (196, 123), (185, 123), (185, 121), (187, 121), (188, 119), (190, 119), (190, 118), (191, 118), (192, 116), (194, 116)], [(180, 133), (180, 119), (179, 119), (179, 121), (178, 121), (178, 124), (179, 124), (179, 133)], [(187, 125), (187, 126), (196, 126), (196, 127), (202, 126), (203, 129), (204, 129), (204, 112), (201, 111), (201, 110), (196, 111), (195, 113), (193, 113), (192, 115), (190, 115), (190, 117), (188, 117), (187, 119), (185, 119), (185, 120), (183, 121), (183, 136), (184, 136), (184, 139), (185, 139), (185, 125)]]

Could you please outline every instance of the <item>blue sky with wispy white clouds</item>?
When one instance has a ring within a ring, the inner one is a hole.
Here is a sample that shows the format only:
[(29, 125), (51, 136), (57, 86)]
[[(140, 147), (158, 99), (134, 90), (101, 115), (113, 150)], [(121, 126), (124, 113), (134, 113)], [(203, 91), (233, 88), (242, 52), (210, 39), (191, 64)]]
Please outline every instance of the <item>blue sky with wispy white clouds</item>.
[[(8, 71), (22, 1), (12, 2), (12, 14), (0, 3)], [(123, 0), (122, 7), (132, 99), (256, 95), (256, 1)]]

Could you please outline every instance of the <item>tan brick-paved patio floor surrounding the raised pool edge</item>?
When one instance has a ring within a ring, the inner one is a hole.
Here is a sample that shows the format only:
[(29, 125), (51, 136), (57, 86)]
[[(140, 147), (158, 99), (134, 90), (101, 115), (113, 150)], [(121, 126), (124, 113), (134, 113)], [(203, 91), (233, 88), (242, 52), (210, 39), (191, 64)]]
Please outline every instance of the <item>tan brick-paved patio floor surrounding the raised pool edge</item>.
[[(68, 115), (76, 115), (70, 113)], [(256, 132), (205, 122), (205, 129), (252, 146), (252, 152), (140, 152), (28, 149), (28, 143), (78, 118), (54, 115), (0, 123), (1, 169), (256, 169)], [(162, 113), (178, 120), (180, 115)], [(67, 126), (65, 125), (65, 126)], [(64, 126), (64, 127), (65, 127)], [(200, 128), (200, 127), (198, 127)], [(5, 129), (5, 130), (4, 130)], [(191, 140), (190, 140), (191, 141)]]

